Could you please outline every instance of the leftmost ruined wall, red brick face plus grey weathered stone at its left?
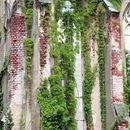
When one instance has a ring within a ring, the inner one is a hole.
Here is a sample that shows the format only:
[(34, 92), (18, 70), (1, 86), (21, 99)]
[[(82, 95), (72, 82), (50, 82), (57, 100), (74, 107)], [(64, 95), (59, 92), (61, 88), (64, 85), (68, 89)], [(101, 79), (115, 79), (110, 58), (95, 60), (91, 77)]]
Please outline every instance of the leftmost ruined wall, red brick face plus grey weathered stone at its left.
[(2, 84), (3, 121), (7, 120), (6, 116), (9, 112), (13, 114), (13, 129), (20, 129), (20, 118), (25, 103), (23, 47), (23, 37), (26, 35), (25, 20), (20, 10), (12, 15), (13, 11), (16, 11), (15, 1), (1, 0), (0, 6), (0, 71), (5, 67), (5, 62), (9, 61), (8, 71)]

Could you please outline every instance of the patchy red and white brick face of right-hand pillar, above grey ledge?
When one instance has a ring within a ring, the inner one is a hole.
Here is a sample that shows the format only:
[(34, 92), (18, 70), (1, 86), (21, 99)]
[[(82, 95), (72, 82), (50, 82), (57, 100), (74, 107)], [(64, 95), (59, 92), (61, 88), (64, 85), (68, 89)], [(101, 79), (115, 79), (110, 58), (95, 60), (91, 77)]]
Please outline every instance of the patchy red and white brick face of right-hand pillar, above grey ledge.
[(110, 17), (110, 44), (112, 49), (112, 96), (113, 102), (123, 102), (123, 73), (121, 33), (118, 16)]

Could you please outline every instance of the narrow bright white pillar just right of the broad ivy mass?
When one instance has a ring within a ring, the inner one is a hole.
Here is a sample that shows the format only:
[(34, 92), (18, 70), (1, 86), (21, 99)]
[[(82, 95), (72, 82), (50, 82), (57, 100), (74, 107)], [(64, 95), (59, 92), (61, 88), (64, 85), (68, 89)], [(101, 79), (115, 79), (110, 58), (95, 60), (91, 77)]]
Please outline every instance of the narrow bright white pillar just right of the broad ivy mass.
[[(76, 39), (75, 39), (76, 40)], [(77, 108), (75, 119), (77, 121), (77, 130), (86, 130), (86, 121), (83, 108), (83, 61), (81, 54), (81, 41), (78, 41), (79, 52), (76, 54), (75, 61), (75, 96), (77, 99)]]

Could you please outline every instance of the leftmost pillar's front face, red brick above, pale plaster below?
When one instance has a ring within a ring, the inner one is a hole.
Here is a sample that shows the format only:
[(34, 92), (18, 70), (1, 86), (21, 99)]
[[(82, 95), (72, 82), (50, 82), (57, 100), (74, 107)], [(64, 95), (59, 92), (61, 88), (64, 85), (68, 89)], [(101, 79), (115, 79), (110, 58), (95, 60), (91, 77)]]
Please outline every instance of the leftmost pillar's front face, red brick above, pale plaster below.
[(25, 36), (24, 16), (19, 13), (11, 17), (10, 35), (10, 66), (9, 66), (9, 100), (15, 123), (13, 129), (20, 129), (20, 118), (25, 103), (24, 90), (24, 47), (23, 37)]

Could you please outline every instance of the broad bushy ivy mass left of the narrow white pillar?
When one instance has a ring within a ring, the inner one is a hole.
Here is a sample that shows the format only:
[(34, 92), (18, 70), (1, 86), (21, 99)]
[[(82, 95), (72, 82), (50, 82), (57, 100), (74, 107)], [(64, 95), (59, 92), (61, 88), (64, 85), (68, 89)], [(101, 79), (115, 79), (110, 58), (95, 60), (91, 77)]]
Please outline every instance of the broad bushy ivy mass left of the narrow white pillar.
[[(72, 8), (75, 8), (74, 3), (76, 3), (75, 0), (72, 2)], [(75, 54), (77, 49), (73, 45), (73, 35), (77, 31), (74, 29), (74, 25), (77, 26), (78, 17), (75, 12), (62, 13), (63, 6), (64, 1), (56, 1), (55, 20), (50, 21), (50, 30), (47, 33), (51, 46), (50, 55), (54, 59), (54, 66), (52, 67), (52, 75), (41, 84), (38, 93), (38, 102), (41, 108), (41, 126), (43, 129), (75, 130), (77, 128), (75, 120), (76, 98), (74, 94), (76, 86), (74, 78)], [(64, 34), (58, 31), (57, 23), (59, 20), (63, 21)], [(44, 21), (44, 23), (46, 22)], [(65, 37), (64, 41), (62, 40), (63, 37)], [(49, 83), (49, 88), (47, 82)], [(44, 93), (43, 89), (45, 90)], [(44, 98), (45, 93), (48, 93), (47, 98)], [(44, 100), (42, 100), (43, 98)], [(50, 106), (53, 106), (55, 110), (51, 108), (53, 110), (51, 111), (49, 109)], [(45, 118), (46, 114), (52, 120)], [(54, 123), (56, 124), (54, 125)]]

